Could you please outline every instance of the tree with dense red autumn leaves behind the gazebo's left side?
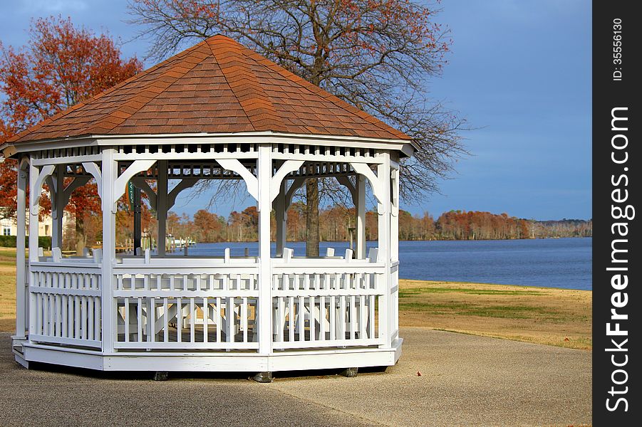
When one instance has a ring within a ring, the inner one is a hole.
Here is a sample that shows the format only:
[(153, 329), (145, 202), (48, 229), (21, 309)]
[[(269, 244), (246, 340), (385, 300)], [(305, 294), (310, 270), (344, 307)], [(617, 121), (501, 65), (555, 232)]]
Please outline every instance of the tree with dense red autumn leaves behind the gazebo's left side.
[[(108, 34), (76, 28), (71, 19), (33, 21), (29, 45), (15, 50), (0, 43), (0, 143), (41, 120), (103, 92), (143, 68), (137, 58), (120, 58)], [(14, 217), (16, 163), (0, 163), (0, 216)], [(96, 184), (71, 195), (66, 210), (76, 216), (78, 251), (85, 246), (84, 219), (100, 212)]]

